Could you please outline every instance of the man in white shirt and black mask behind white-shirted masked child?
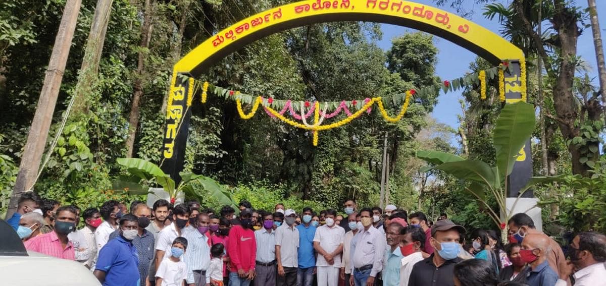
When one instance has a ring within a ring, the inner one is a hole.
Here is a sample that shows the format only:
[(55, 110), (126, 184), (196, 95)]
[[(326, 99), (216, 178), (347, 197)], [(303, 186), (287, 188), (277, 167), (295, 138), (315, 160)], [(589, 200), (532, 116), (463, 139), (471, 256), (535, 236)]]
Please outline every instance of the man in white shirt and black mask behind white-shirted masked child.
[(182, 236), (183, 230), (187, 226), (187, 222), (189, 222), (190, 213), (190, 208), (184, 203), (178, 204), (173, 208), (173, 222), (158, 233), (154, 273), (160, 267), (164, 254), (170, 253), (175, 238)]

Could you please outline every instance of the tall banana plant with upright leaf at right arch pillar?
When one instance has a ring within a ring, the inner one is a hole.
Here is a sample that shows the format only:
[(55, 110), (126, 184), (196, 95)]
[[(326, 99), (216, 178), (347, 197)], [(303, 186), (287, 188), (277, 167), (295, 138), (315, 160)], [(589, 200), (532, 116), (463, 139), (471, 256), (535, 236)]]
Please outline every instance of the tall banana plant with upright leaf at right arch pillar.
[[(496, 165), (482, 161), (468, 160), (441, 151), (418, 151), (417, 158), (422, 159), (437, 170), (470, 182), (465, 187), (471, 195), (490, 211), (490, 218), (501, 229), (503, 241), (507, 239), (507, 221), (513, 215), (518, 199), (525, 191), (539, 184), (558, 181), (561, 177), (533, 177), (519, 191), (518, 198), (511, 210), (507, 210), (507, 177), (513, 170), (520, 151), (534, 129), (534, 107), (526, 102), (506, 104), (494, 128), (493, 144), (496, 151)], [(487, 197), (493, 196), (499, 205), (499, 214), (488, 205)]]

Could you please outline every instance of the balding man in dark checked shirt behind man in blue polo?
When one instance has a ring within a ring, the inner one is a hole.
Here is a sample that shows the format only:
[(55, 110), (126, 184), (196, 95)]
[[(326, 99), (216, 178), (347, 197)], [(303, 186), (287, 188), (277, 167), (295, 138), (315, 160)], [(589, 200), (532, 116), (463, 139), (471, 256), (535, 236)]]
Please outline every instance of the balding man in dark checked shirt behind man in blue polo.
[[(138, 204), (131, 210), (138, 222), (137, 236), (132, 239), (131, 243), (135, 246), (137, 254), (139, 256), (139, 277), (141, 278), (141, 286), (145, 286), (145, 279), (147, 279), (151, 261), (154, 258), (154, 245), (155, 239), (153, 234), (145, 228), (150, 224), (151, 210), (145, 204)], [(110, 241), (118, 238), (120, 231), (116, 230), (110, 234)]]

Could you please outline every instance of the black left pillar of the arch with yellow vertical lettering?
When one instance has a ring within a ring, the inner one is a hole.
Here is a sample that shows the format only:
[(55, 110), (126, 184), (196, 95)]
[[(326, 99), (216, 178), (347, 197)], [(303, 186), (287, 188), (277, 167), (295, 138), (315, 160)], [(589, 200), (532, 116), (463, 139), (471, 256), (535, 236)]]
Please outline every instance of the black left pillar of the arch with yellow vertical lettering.
[(193, 79), (184, 75), (173, 75), (166, 107), (160, 167), (175, 180), (176, 185), (181, 181), (179, 172), (183, 170), (185, 159), (192, 98)]

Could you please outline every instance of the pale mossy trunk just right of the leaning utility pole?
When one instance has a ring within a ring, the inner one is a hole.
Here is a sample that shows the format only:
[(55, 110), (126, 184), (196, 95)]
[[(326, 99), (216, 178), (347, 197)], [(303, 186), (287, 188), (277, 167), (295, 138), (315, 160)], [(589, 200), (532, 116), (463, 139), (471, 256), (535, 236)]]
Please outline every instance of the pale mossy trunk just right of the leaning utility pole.
[(95, 16), (88, 32), (88, 41), (84, 48), (84, 59), (78, 76), (78, 84), (74, 96), (73, 113), (75, 115), (86, 113), (90, 107), (87, 96), (92, 93), (96, 85), (99, 61), (105, 42), (107, 24), (112, 12), (113, 0), (98, 0), (95, 7)]

